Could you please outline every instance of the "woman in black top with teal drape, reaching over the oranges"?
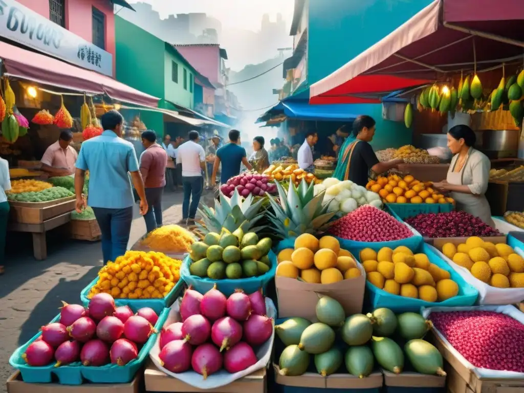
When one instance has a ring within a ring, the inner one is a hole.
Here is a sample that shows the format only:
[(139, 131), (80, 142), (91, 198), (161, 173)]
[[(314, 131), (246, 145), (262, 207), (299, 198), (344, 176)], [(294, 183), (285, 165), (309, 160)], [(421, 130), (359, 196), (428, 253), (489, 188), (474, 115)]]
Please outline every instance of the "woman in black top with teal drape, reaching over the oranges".
[(339, 153), (339, 163), (333, 177), (339, 180), (351, 180), (366, 187), (369, 171), (376, 174), (386, 172), (402, 163), (402, 160), (380, 162), (369, 144), (375, 135), (375, 120), (371, 116), (358, 116), (353, 122), (352, 137), (347, 140)]

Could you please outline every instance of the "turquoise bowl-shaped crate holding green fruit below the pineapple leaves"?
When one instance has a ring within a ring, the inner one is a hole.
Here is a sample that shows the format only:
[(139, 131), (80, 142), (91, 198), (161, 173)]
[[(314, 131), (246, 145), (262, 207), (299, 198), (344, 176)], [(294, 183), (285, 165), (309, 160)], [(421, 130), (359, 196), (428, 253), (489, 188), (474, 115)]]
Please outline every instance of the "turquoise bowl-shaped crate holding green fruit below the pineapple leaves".
[(213, 288), (215, 283), (217, 288), (225, 294), (225, 296), (230, 296), (236, 289), (242, 289), (246, 293), (253, 293), (262, 288), (264, 292), (266, 292), (269, 281), (275, 277), (275, 272), (277, 271), (277, 256), (272, 250), (270, 250), (268, 256), (271, 261), (271, 268), (266, 274), (258, 277), (239, 278), (236, 280), (228, 278), (223, 280), (213, 280), (208, 277), (192, 276), (189, 272), (191, 258), (187, 256), (180, 267), (180, 278), (183, 279), (188, 286), (191, 286), (195, 291), (200, 293), (209, 291)]

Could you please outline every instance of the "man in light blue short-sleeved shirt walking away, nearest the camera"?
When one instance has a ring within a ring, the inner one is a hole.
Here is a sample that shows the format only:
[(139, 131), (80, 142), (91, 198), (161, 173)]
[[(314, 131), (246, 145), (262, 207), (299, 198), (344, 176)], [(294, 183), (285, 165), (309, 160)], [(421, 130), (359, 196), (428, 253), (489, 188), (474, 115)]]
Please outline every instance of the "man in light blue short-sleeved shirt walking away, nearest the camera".
[(104, 264), (124, 255), (129, 241), (135, 202), (128, 172), (140, 197), (140, 214), (147, 213), (144, 182), (135, 148), (121, 138), (124, 118), (117, 111), (102, 115), (102, 135), (82, 143), (76, 163), (74, 190), (77, 212), (85, 208), (82, 189), (89, 170), (88, 204), (102, 232)]

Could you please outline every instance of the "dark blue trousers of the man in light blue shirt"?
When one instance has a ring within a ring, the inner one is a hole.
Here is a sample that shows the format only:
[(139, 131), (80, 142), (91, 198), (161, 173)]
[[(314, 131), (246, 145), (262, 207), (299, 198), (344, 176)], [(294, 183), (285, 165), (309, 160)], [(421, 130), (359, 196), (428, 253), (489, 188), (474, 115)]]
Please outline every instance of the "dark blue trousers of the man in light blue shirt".
[(102, 255), (106, 264), (126, 253), (133, 222), (133, 206), (124, 209), (93, 208), (93, 212), (102, 233)]

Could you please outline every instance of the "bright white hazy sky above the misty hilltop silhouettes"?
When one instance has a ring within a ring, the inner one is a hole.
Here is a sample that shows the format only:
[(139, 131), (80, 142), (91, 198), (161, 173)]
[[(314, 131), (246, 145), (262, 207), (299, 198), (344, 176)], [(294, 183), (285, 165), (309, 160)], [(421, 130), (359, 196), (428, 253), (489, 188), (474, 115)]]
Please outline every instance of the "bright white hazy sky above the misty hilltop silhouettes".
[(282, 14), (288, 25), (293, 19), (294, 0), (128, 0), (129, 3), (149, 3), (167, 18), (169, 14), (187, 14), (205, 12), (222, 22), (222, 28), (260, 30), (263, 14), (269, 14), (275, 20)]

